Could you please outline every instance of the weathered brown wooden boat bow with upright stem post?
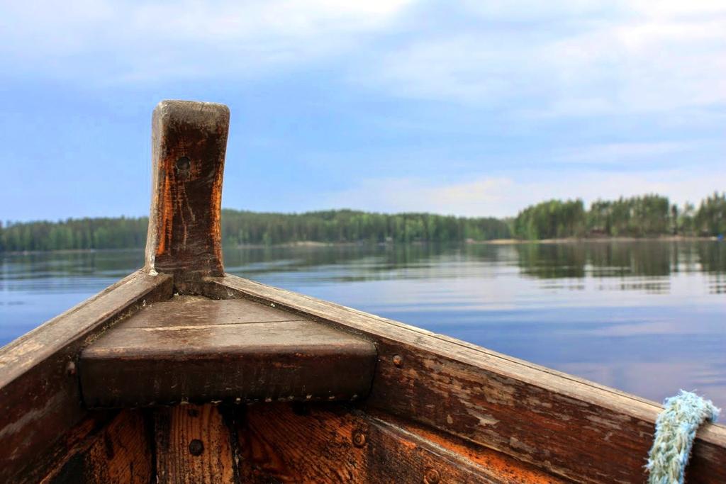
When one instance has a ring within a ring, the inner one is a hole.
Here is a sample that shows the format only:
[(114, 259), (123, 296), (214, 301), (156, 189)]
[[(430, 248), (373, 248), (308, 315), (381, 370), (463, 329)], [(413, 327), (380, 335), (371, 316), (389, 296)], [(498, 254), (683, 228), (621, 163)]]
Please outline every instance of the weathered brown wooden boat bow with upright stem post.
[[(139, 271), (0, 349), (3, 483), (640, 483), (662, 406), (225, 274), (223, 104), (152, 116)], [(726, 427), (688, 483), (726, 483)]]

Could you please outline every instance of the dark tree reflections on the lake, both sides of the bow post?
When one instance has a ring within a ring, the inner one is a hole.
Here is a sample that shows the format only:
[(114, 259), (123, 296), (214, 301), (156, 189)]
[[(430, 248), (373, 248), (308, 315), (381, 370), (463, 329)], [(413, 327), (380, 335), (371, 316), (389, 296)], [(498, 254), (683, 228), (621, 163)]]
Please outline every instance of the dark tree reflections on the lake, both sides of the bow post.
[[(0, 261), (0, 279), (85, 275), (120, 279), (142, 266), (143, 258), (140, 250), (12, 255)], [(224, 264), (230, 273), (253, 279), (261, 274), (306, 272), (340, 282), (476, 277), (488, 270), (486, 266), (516, 267), (525, 276), (550, 279), (553, 284), (556, 279), (590, 276), (602, 279), (609, 289), (648, 292), (668, 290), (673, 274), (703, 272), (710, 292), (726, 292), (723, 242), (225, 247)]]

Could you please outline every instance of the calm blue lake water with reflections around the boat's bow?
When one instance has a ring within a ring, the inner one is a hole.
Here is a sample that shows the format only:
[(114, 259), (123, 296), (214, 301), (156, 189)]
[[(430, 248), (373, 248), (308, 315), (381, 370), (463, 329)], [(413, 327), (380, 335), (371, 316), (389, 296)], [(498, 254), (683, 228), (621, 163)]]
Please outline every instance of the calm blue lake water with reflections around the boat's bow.
[[(225, 249), (232, 274), (415, 324), (661, 401), (726, 406), (726, 243)], [(1, 255), (0, 344), (143, 253)]]

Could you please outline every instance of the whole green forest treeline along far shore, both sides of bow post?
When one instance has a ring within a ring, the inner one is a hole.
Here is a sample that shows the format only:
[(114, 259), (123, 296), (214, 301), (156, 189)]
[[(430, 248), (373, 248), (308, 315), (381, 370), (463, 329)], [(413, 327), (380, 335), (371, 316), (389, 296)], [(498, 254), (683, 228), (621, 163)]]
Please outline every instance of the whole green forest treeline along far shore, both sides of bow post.
[[(0, 252), (130, 249), (144, 247), (148, 219), (69, 218), (65, 221), (0, 223)], [(550, 200), (512, 219), (440, 216), (431, 213), (368, 213), (324, 210), (259, 213), (222, 210), (225, 245), (288, 242), (464, 242), (565, 237), (713, 236), (726, 233), (726, 194), (714, 193), (698, 208), (671, 204), (660, 195), (597, 200)]]

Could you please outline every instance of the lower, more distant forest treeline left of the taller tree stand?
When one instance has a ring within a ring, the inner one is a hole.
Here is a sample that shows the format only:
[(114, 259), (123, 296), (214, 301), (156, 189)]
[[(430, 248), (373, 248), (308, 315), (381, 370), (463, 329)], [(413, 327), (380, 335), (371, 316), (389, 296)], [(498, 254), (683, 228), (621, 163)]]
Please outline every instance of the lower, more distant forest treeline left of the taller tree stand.
[[(0, 251), (127, 249), (144, 247), (148, 219), (75, 218), (59, 222), (6, 223)], [(367, 213), (325, 210), (259, 213), (222, 210), (225, 245), (287, 242), (452, 242), (511, 237), (506, 221), (431, 213)]]

